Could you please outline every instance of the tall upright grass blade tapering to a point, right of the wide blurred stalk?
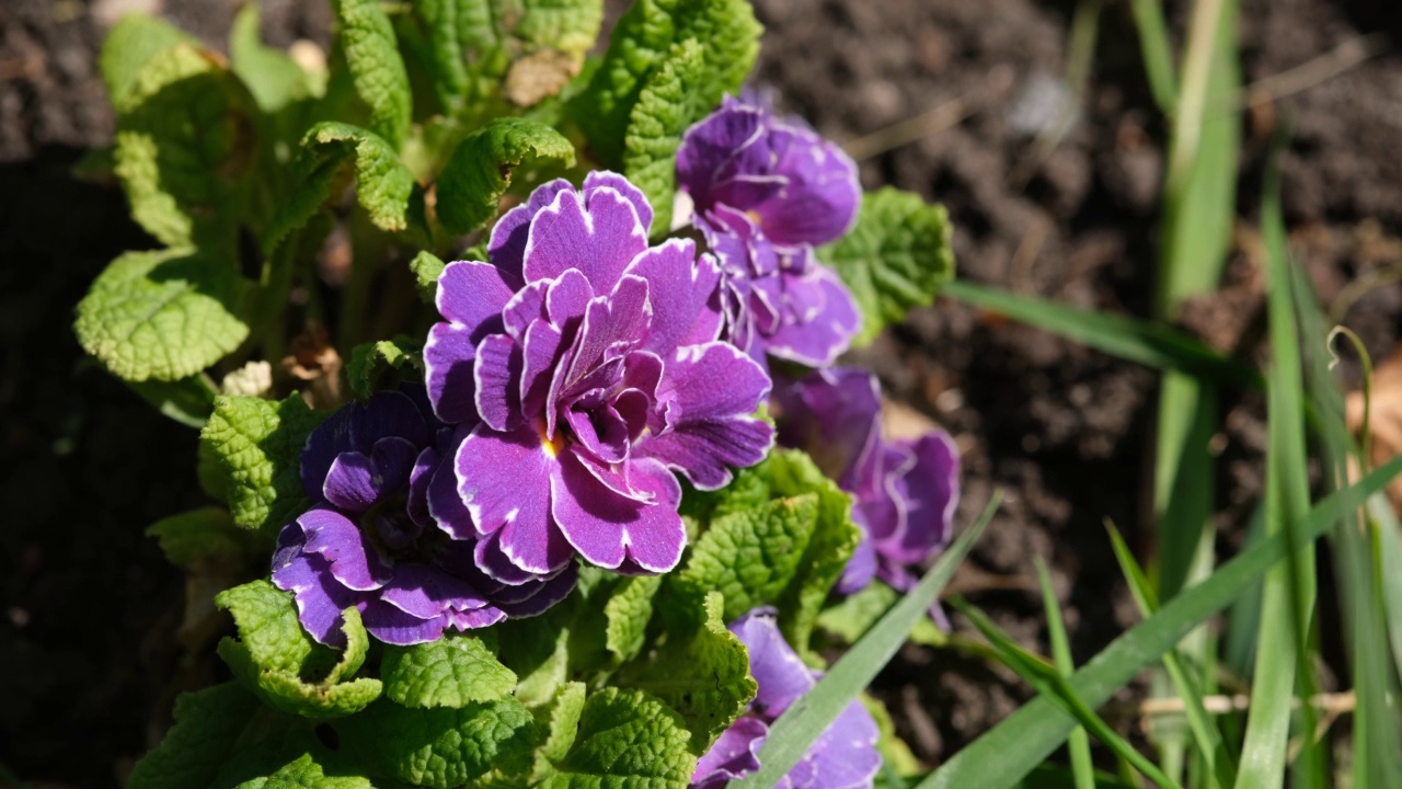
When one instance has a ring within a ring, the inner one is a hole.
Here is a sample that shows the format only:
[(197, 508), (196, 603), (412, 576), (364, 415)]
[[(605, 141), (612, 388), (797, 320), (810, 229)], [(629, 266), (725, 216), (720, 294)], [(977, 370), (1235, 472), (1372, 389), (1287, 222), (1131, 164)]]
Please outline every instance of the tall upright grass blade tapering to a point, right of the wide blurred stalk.
[[(1277, 140), (1279, 145), (1280, 140)], [(1281, 533), (1290, 557), (1266, 574), (1262, 597), (1251, 710), (1242, 743), (1238, 789), (1276, 788), (1286, 782), (1291, 705), (1297, 687), (1312, 694), (1308, 651), (1309, 612), (1315, 599), (1314, 545), (1300, 533), (1300, 515), (1309, 507), (1305, 466), (1304, 382), (1300, 336), (1291, 295), (1284, 219), (1280, 213), (1280, 170), (1274, 159), (1262, 190), (1262, 234), (1266, 241), (1266, 310), (1270, 320), (1272, 365), (1266, 373), (1266, 532)], [(1288, 623), (1290, 626), (1281, 626)], [(1314, 745), (1314, 709), (1301, 706), (1305, 745), (1298, 776), (1323, 783), (1323, 765)]]

